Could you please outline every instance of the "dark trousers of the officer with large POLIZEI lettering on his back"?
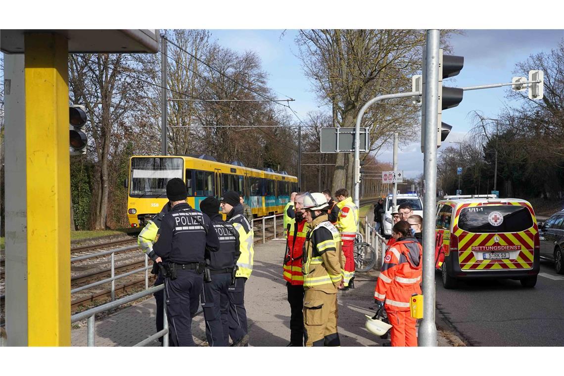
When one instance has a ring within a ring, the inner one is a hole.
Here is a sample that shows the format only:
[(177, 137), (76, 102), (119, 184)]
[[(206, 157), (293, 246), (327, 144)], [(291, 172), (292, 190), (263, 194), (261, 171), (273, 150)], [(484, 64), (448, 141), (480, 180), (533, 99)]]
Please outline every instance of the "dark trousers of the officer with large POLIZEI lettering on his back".
[(165, 278), (166, 315), (170, 346), (196, 346), (192, 338), (192, 316), (200, 306), (204, 278), (196, 271), (178, 270), (174, 281)]

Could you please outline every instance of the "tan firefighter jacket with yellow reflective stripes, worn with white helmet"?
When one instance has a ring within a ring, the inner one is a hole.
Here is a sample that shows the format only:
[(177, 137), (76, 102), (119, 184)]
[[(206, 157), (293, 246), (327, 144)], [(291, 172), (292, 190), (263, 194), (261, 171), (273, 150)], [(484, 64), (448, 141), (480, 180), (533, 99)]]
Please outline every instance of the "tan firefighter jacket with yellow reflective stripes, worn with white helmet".
[(303, 247), (303, 288), (336, 294), (341, 284), (344, 256), (341, 236), (327, 220), (327, 214), (315, 218)]

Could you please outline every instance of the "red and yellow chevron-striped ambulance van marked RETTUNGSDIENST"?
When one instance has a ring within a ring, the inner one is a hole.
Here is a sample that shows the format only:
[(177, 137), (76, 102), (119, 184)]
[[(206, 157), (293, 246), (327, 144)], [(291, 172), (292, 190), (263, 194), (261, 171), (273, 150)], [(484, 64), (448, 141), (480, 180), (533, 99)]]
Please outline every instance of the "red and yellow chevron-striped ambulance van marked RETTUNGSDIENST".
[(445, 196), (437, 204), (435, 267), (443, 286), (469, 278), (511, 278), (534, 287), (539, 228), (531, 204), (493, 194)]

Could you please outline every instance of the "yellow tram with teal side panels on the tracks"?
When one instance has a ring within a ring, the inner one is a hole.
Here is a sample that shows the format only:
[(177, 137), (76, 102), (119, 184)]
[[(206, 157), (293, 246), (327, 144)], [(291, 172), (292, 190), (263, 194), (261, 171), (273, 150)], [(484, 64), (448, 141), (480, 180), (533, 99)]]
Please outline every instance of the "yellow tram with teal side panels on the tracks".
[(221, 198), (224, 192), (243, 194), (253, 216), (282, 213), (291, 192), (297, 190), (298, 178), (285, 171), (256, 170), (241, 162), (221, 163), (206, 155), (133, 156), (129, 161), (127, 182), (127, 218), (131, 227), (142, 227), (168, 202), (166, 183), (184, 179), (187, 202), (200, 209), (208, 196)]

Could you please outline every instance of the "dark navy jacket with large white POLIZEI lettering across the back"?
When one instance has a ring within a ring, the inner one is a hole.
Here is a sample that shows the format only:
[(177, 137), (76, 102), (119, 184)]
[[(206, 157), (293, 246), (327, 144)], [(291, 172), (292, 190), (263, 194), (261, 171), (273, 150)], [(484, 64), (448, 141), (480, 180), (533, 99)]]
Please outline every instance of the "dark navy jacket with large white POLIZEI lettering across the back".
[(182, 202), (163, 216), (153, 250), (164, 262), (202, 263), (205, 249), (219, 250), (219, 238), (211, 230), (207, 215)]

